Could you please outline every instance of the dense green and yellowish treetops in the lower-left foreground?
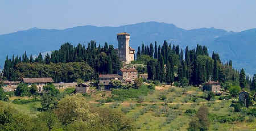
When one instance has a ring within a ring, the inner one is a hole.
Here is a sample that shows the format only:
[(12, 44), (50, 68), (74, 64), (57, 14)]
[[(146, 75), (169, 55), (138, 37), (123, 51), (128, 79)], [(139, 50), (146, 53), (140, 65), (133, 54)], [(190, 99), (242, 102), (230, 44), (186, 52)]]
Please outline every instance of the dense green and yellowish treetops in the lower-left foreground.
[(19, 113), (0, 102), (0, 130), (134, 130), (134, 122), (121, 111), (90, 107), (76, 95), (67, 96), (56, 108), (36, 117)]

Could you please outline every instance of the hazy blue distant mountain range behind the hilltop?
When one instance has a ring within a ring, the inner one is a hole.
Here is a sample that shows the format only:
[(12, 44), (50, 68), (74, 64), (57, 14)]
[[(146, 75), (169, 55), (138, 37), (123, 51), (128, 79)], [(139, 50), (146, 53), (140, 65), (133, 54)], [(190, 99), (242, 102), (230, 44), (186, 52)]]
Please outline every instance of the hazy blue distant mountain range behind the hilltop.
[(142, 43), (148, 45), (164, 40), (181, 47), (196, 47), (196, 44), (207, 45), (209, 53), (218, 52), (222, 60), (233, 60), (234, 67), (245, 68), (247, 73), (256, 73), (256, 28), (242, 32), (228, 32), (224, 29), (199, 28), (183, 29), (174, 24), (146, 22), (120, 27), (79, 26), (67, 29), (31, 28), (6, 35), (0, 35), (0, 64), (3, 66), (6, 54), (20, 55), (38, 54), (59, 49), (60, 45), (70, 42), (86, 44), (96, 40), (103, 45), (105, 42), (118, 46), (116, 34), (124, 32), (131, 34), (130, 46), (137, 49)]

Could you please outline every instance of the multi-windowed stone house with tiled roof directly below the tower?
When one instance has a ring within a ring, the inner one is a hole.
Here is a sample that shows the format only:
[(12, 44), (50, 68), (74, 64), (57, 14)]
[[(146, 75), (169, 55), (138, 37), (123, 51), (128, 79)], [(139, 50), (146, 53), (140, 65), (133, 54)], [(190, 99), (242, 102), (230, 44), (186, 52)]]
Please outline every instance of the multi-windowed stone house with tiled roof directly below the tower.
[(135, 68), (122, 68), (118, 71), (118, 74), (126, 82), (133, 82), (134, 79), (138, 78), (138, 71)]

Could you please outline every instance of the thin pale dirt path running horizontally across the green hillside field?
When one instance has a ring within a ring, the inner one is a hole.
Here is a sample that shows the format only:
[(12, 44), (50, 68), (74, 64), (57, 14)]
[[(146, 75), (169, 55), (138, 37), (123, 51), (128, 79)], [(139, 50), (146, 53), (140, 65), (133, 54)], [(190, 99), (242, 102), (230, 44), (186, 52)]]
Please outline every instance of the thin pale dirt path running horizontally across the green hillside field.
[[(211, 103), (218, 103), (221, 102), (221, 100), (215, 100), (214, 102)], [(99, 102), (89, 102), (90, 104), (99, 104)], [(207, 102), (200, 102), (199, 104), (206, 104)], [(105, 104), (113, 104), (112, 103), (105, 103)], [(165, 104), (165, 102), (155, 102), (155, 103), (151, 103), (151, 102), (123, 102), (123, 103), (119, 103), (122, 105), (129, 105), (129, 104)], [(196, 103), (167, 103), (167, 104), (196, 104)]]

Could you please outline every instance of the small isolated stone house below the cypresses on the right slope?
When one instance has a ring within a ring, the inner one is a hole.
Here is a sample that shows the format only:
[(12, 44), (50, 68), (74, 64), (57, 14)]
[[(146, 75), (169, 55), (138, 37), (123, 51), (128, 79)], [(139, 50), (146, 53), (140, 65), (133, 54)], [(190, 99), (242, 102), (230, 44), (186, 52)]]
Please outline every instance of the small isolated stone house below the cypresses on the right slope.
[(203, 91), (212, 91), (215, 94), (219, 94), (221, 93), (221, 83), (214, 81), (204, 83)]

